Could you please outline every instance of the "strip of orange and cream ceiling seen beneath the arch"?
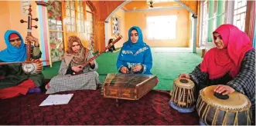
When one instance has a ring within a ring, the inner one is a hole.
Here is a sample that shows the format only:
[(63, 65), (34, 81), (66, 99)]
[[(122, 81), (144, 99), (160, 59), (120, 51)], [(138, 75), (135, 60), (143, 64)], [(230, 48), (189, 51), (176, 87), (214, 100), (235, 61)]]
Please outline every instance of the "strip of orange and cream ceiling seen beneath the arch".
[[(179, 7), (179, 3), (173, 1), (153, 1), (153, 8), (168, 8), (168, 7)], [(150, 4), (147, 1), (131, 1), (122, 7), (124, 11), (135, 11), (141, 9), (148, 9)]]

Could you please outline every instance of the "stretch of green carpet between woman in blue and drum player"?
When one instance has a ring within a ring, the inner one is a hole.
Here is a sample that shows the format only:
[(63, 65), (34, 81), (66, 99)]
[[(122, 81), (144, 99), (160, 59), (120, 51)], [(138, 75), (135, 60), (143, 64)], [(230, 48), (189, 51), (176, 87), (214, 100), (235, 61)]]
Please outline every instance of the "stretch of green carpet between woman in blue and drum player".
[(159, 84), (154, 89), (170, 90), (174, 79), (181, 73), (193, 71), (202, 58), (193, 53), (153, 53), (152, 74), (157, 75)]

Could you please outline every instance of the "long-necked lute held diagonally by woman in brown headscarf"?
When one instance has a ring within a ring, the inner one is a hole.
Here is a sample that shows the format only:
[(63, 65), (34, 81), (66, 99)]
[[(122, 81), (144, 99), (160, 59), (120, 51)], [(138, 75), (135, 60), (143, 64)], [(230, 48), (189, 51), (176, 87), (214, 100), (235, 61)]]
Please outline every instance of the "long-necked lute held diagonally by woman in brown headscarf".
[[(104, 51), (106, 51), (108, 48), (111, 48), (111, 46), (114, 45), (115, 43), (117, 43), (121, 38), (123, 38), (121, 35), (118, 36), (118, 38), (116, 38), (114, 41), (112, 41), (111, 44), (109, 44), (107, 47), (105, 47)], [(87, 66), (90, 63), (90, 61), (93, 61), (95, 58), (100, 56), (104, 51), (100, 51), (99, 53), (97, 53), (97, 55), (94, 55), (94, 57), (90, 58), (87, 62), (84, 63), (84, 65), (81, 65), (80, 68), (84, 68), (85, 66)], [(79, 75), (80, 73), (81, 73), (81, 71), (80, 72), (72, 71), (71, 75)]]

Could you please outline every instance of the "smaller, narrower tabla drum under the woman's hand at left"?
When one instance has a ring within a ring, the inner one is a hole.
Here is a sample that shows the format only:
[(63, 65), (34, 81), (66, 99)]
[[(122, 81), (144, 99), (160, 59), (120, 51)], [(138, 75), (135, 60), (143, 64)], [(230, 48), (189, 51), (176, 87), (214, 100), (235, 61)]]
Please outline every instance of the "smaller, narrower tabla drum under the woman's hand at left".
[(170, 91), (171, 101), (181, 108), (190, 108), (195, 104), (195, 84), (187, 78), (176, 78), (173, 91)]

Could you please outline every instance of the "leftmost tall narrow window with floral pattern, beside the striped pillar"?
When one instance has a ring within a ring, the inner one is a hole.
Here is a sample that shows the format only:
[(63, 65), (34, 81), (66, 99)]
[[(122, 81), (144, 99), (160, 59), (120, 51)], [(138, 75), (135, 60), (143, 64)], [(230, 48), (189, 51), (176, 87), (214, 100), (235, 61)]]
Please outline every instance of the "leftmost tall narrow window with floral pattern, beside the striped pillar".
[(52, 62), (62, 60), (63, 49), (63, 22), (61, 2), (49, 1), (47, 6), (49, 24), (49, 48)]

